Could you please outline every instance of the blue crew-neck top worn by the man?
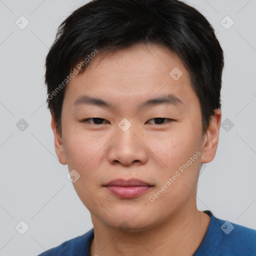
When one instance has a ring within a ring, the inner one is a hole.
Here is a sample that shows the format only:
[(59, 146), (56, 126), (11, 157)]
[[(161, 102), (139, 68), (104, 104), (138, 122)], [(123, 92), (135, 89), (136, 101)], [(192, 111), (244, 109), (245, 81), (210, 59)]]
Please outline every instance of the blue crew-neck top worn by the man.
[[(256, 255), (256, 230), (216, 218), (209, 210), (204, 212), (210, 216), (210, 222), (193, 256)], [(87, 233), (67, 240), (38, 256), (90, 256), (93, 237), (92, 228)]]

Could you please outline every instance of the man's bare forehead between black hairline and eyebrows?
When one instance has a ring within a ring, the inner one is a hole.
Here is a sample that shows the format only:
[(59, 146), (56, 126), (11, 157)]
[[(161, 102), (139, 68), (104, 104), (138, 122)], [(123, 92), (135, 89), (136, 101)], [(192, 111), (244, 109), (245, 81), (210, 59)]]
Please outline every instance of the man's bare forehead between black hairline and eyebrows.
[(117, 104), (137, 104), (169, 93), (184, 103), (196, 97), (180, 57), (158, 44), (135, 44), (108, 54), (99, 51), (65, 92), (73, 103), (85, 94)]

